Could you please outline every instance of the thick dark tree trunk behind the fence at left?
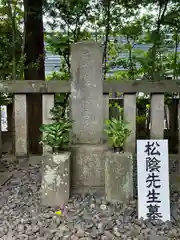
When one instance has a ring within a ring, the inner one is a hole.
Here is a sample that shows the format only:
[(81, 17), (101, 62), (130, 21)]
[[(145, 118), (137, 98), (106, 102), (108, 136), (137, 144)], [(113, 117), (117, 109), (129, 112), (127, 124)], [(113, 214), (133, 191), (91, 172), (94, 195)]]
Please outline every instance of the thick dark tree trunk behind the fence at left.
[[(44, 37), (42, 20), (43, 0), (24, 0), (25, 12), (25, 80), (45, 80)], [(41, 154), (39, 145), (42, 123), (41, 94), (27, 96), (29, 152)]]

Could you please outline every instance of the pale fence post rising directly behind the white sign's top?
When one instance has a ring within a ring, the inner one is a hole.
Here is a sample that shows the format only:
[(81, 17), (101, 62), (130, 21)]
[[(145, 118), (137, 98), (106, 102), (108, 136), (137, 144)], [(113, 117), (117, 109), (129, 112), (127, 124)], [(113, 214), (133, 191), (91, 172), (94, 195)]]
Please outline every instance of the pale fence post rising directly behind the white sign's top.
[(151, 139), (164, 139), (164, 94), (151, 95)]

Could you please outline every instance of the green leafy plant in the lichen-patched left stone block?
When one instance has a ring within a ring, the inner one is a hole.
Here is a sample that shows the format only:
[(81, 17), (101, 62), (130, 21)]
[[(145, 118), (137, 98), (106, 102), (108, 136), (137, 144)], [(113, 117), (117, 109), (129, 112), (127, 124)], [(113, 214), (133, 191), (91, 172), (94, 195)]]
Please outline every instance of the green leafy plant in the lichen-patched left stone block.
[(61, 119), (51, 124), (42, 124), (40, 131), (45, 133), (45, 135), (42, 136), (40, 144), (52, 147), (53, 152), (63, 150), (70, 142), (69, 134), (71, 127), (72, 122), (67, 119)]

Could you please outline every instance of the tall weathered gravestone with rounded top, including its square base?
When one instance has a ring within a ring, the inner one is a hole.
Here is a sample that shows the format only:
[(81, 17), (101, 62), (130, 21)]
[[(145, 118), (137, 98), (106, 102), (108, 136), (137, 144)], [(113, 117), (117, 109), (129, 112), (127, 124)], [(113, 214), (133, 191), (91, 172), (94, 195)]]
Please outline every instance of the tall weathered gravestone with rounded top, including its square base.
[(72, 185), (104, 186), (102, 48), (94, 41), (71, 47)]

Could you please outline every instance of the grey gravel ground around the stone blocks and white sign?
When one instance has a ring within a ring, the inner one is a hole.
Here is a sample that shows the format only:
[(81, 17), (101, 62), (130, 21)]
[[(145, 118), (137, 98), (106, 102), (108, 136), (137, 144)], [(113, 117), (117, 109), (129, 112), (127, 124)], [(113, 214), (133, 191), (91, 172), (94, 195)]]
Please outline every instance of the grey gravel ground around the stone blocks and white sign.
[(138, 220), (136, 200), (128, 206), (111, 205), (90, 194), (73, 196), (63, 216), (58, 216), (58, 209), (40, 206), (38, 165), (16, 166), (13, 172), (0, 188), (0, 240), (180, 239), (180, 195), (175, 189), (171, 189), (171, 222), (155, 225)]

